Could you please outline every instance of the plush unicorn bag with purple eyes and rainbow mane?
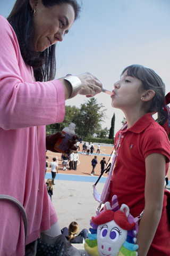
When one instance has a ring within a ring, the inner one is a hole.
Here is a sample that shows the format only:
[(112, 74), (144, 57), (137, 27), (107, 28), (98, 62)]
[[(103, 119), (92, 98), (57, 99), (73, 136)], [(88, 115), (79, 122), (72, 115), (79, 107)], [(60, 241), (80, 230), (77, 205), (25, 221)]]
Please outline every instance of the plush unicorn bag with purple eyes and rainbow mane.
[(91, 228), (84, 249), (91, 256), (137, 256), (139, 218), (133, 218), (129, 207), (122, 204), (119, 209), (117, 196), (112, 198), (104, 210), (90, 220)]

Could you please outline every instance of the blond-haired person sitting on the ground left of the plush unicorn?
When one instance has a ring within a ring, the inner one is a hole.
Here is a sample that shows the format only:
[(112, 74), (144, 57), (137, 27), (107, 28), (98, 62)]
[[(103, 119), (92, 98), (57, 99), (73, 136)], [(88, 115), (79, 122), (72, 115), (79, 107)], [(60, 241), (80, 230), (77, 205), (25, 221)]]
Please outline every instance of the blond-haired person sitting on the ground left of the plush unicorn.
[(79, 225), (73, 221), (70, 223), (69, 229), (65, 227), (61, 232), (71, 244), (83, 244), (87, 238), (88, 229), (84, 228), (79, 233)]

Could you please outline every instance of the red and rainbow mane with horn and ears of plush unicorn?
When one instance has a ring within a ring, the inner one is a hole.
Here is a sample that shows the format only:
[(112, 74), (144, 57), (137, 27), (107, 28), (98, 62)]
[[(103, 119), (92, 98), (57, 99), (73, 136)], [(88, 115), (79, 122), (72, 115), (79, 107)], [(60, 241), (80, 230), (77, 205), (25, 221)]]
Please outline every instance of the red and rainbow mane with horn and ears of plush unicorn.
[[(123, 211), (123, 209), (125, 209), (124, 212), (121, 212), (120, 214), (120, 211)], [(139, 228), (139, 225), (138, 225), (139, 219), (138, 218), (134, 219), (132, 217), (132, 215), (129, 213), (129, 207), (127, 205), (123, 204), (120, 208), (120, 206), (118, 205), (118, 200), (116, 195), (112, 197), (112, 206), (110, 205), (109, 202), (106, 202), (104, 205), (104, 210), (101, 212), (97, 212), (97, 215), (95, 217), (92, 217), (90, 220), (90, 226), (91, 226), (91, 228), (89, 229), (90, 233), (88, 233), (88, 238), (85, 240), (85, 243), (84, 243), (84, 249), (88, 252), (89, 255), (100, 256), (98, 252), (98, 241), (97, 241), (97, 228), (99, 226), (99, 223), (100, 222), (106, 223), (111, 221), (112, 219), (114, 219), (114, 221), (116, 222), (116, 219), (115, 219), (116, 215), (121, 215), (121, 219), (122, 219), (122, 215), (125, 215), (125, 214), (126, 214), (125, 216), (126, 220), (124, 216), (123, 216), (124, 220), (122, 220), (124, 225), (123, 229), (127, 230), (128, 233), (126, 236), (126, 241), (121, 246), (117, 256), (137, 256), (138, 255), (138, 252), (136, 251), (138, 250), (138, 245), (136, 244), (137, 242), (136, 236)], [(109, 216), (108, 221), (105, 221), (107, 215)], [(105, 220), (101, 221), (102, 218), (104, 218)], [(119, 225), (120, 223), (117, 223), (117, 224)], [(125, 228), (125, 227), (129, 227), (129, 228)]]

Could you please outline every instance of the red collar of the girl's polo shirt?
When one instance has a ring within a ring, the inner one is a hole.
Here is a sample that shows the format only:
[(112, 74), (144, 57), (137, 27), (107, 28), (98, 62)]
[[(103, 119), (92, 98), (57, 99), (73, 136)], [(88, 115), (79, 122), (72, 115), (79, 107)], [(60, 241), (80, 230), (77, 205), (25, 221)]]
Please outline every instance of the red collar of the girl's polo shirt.
[(137, 122), (135, 122), (132, 127), (130, 127), (127, 132), (134, 132), (134, 133), (141, 133), (144, 131), (151, 122), (155, 122), (155, 119), (152, 117), (151, 113), (147, 113), (144, 116), (142, 116)]

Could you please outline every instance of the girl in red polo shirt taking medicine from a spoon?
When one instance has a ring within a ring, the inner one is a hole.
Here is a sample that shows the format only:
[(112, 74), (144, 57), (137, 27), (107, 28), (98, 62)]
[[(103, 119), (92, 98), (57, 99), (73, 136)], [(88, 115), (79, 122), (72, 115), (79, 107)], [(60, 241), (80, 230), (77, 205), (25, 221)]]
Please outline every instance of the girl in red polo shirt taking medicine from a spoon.
[[(162, 127), (168, 118), (163, 109), (165, 85), (153, 70), (132, 65), (114, 84), (111, 98), (112, 107), (123, 111), (127, 126), (119, 142), (109, 201), (117, 195), (119, 204), (127, 204), (133, 217), (144, 209), (137, 236), (139, 256), (169, 256), (168, 193), (164, 181), (170, 143)], [(157, 122), (152, 118), (155, 112)]]

